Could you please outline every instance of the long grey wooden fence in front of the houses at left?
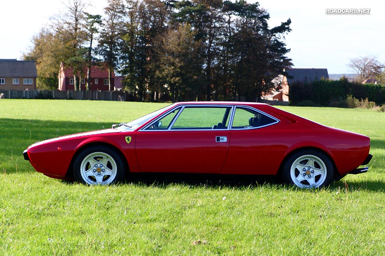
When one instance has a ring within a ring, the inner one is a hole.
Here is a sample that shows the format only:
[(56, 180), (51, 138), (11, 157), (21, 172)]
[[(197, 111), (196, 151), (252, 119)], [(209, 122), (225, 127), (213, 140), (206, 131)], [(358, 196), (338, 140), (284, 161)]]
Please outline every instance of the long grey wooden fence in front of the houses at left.
[(40, 91), (0, 90), (5, 99), (58, 99), (132, 101), (132, 95), (123, 91)]

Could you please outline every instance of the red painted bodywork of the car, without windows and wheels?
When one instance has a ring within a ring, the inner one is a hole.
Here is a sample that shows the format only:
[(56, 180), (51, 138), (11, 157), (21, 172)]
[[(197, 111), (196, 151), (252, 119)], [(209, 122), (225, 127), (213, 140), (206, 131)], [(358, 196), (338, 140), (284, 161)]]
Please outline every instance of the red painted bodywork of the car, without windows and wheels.
[[(290, 153), (316, 148), (330, 156), (335, 173), (343, 176), (360, 166), (370, 149), (367, 136), (323, 126), (263, 103), (181, 102), (163, 113), (181, 105), (249, 106), (280, 121), (248, 130), (141, 131), (160, 113), (133, 131), (106, 129), (35, 143), (27, 150), (30, 163), (49, 177), (68, 179), (72, 160), (83, 146), (105, 143), (121, 152), (130, 172), (276, 175)], [(126, 136), (131, 136), (130, 143)], [(218, 143), (216, 136), (228, 140)]]

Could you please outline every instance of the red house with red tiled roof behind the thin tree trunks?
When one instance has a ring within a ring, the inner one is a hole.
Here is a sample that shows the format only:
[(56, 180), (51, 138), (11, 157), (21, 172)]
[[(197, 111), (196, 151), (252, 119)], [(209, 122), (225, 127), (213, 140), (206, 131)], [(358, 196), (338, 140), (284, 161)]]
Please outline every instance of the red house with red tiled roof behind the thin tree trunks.
[[(79, 79), (80, 74), (77, 74)], [(115, 73), (112, 71), (111, 75), (112, 88), (114, 88)], [(87, 83), (87, 67), (82, 69), (80, 76), (80, 89), (86, 90), (85, 84)], [(75, 90), (74, 84), (74, 72), (73, 68), (66, 68), (63, 63), (60, 64), (59, 72), (59, 90), (60, 91), (73, 91)], [(104, 65), (93, 65), (91, 67), (91, 85), (89, 86), (90, 91), (108, 91), (108, 68)]]

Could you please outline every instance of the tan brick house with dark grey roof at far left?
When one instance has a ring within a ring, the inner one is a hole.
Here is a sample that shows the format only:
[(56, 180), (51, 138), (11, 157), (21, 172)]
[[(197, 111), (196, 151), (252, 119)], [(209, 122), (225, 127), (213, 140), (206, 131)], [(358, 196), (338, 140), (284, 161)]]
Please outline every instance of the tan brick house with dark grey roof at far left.
[(0, 59), (0, 90), (36, 90), (36, 78), (35, 61)]

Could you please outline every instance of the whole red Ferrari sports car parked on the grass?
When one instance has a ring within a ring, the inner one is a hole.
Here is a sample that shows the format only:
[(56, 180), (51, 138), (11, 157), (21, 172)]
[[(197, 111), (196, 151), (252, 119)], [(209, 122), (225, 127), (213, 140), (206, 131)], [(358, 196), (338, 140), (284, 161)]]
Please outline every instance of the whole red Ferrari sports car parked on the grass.
[(111, 129), (41, 141), (23, 155), (44, 175), (90, 185), (161, 172), (280, 175), (319, 188), (366, 172), (358, 167), (369, 163), (369, 149), (367, 136), (273, 106), (211, 101), (175, 103)]

